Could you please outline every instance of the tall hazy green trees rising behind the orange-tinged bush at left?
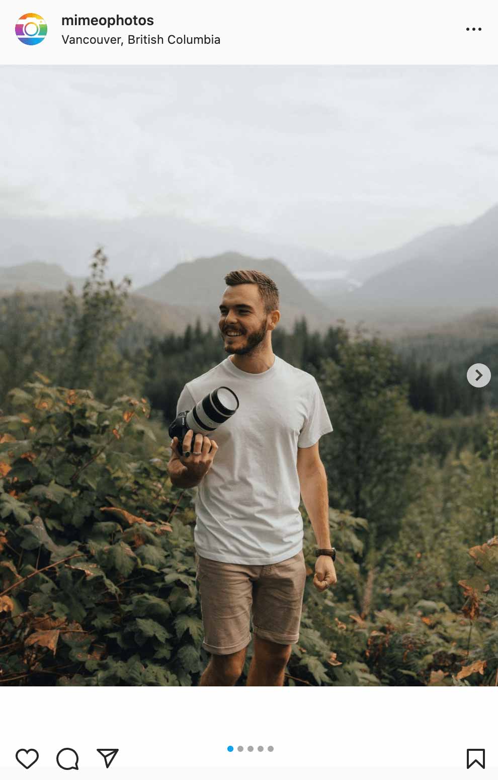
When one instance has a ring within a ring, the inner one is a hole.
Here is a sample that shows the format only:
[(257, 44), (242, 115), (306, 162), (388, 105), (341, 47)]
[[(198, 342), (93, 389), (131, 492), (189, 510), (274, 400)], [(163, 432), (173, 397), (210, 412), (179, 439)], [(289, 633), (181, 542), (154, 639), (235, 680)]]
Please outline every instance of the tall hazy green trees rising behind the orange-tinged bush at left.
[[(0, 300), (0, 399), (10, 411), (8, 392), (28, 381), (34, 371), (48, 374), (55, 385), (90, 388), (111, 402), (116, 395), (142, 395), (147, 347), (129, 349), (121, 341), (132, 324), (126, 309), (129, 278), (106, 279), (108, 259), (97, 250), (82, 296), (68, 286), (53, 308), (37, 306), (23, 293)], [(126, 339), (124, 339), (126, 341)]]

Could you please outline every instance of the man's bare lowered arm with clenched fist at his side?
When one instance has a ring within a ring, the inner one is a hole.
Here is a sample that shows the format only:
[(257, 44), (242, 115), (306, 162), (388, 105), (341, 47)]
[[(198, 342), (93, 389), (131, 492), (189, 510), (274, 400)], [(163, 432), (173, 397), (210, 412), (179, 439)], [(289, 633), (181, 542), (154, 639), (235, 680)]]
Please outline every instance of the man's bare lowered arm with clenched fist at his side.
[[(309, 514), (316, 546), (330, 550), (327, 474), (320, 460), (318, 441), (312, 447), (298, 448), (297, 466), (302, 501)], [(336, 582), (334, 561), (328, 555), (320, 555), (320, 558), (316, 558), (313, 584), (318, 590), (325, 590)]]

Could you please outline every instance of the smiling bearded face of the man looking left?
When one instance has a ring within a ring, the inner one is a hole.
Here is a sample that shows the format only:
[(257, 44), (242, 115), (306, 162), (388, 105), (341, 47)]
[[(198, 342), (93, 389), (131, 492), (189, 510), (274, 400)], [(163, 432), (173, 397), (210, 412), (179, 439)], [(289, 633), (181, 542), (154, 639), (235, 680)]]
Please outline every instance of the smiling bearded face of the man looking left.
[(249, 355), (267, 334), (267, 313), (257, 285), (227, 287), (220, 304), (220, 332), (225, 352)]

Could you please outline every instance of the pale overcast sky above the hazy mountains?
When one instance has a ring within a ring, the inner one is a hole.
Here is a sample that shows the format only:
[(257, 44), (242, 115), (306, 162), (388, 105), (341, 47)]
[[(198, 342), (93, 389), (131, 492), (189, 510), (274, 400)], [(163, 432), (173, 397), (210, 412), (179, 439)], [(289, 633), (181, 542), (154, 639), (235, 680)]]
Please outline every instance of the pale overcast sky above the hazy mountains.
[(354, 259), (498, 203), (498, 66), (0, 75), (2, 216), (171, 214)]

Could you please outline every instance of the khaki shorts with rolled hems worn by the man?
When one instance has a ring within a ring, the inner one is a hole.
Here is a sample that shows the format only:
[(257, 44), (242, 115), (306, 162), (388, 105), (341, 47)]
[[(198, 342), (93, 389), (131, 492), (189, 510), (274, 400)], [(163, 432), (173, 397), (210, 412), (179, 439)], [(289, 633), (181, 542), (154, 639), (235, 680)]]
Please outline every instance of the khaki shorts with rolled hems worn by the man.
[(222, 563), (196, 556), (197, 586), (203, 613), (203, 647), (214, 655), (236, 653), (256, 636), (295, 644), (299, 638), (304, 555), (270, 566)]

